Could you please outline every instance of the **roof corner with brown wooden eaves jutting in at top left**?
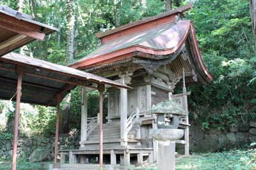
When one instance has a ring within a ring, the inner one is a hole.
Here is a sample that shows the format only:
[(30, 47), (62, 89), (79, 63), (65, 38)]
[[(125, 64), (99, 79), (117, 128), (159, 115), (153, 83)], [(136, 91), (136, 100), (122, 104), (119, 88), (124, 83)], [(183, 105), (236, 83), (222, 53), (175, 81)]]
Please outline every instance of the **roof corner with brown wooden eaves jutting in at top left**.
[(0, 5), (0, 57), (20, 46), (38, 39), (58, 29), (36, 22), (35, 18), (25, 13)]

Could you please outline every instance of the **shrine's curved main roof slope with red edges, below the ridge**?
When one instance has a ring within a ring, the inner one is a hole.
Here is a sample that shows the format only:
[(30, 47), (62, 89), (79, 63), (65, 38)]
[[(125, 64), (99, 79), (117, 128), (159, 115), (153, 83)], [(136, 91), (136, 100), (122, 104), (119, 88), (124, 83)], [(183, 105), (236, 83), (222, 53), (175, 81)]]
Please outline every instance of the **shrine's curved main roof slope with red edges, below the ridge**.
[[(191, 38), (190, 43), (193, 44), (193, 50), (195, 50), (193, 57), (198, 62), (196, 67), (202, 70), (202, 76), (205, 76), (208, 81), (212, 81), (212, 76), (202, 61), (193, 23), (190, 20), (179, 20), (177, 23), (172, 22), (109, 41), (70, 66), (84, 69), (134, 56), (154, 60), (165, 59), (170, 54), (177, 52), (180, 46), (184, 45), (188, 36)], [(139, 53), (141, 55), (138, 56)]]

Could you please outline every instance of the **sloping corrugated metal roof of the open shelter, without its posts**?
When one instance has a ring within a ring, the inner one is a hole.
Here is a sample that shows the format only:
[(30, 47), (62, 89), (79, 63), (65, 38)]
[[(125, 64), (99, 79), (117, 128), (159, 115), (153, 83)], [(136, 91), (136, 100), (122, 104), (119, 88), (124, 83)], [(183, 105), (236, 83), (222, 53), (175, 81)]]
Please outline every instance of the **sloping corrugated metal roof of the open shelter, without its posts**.
[(97, 89), (99, 84), (129, 88), (100, 76), (44, 60), (8, 53), (0, 58), (0, 99), (11, 99), (16, 92), (17, 71), (24, 71), (21, 102), (56, 106), (56, 95), (65, 97), (76, 85)]

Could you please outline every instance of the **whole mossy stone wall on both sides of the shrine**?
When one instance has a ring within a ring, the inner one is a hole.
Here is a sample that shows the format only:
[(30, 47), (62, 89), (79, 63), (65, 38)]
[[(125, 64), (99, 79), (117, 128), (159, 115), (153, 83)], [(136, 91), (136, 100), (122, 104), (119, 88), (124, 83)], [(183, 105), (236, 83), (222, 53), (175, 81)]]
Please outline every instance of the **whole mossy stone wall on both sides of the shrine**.
[[(60, 136), (59, 148), (78, 149), (79, 135), (65, 134)], [(198, 125), (191, 125), (189, 130), (190, 152), (218, 152), (241, 148), (256, 142), (256, 122), (231, 124), (225, 130), (202, 130)], [(184, 145), (177, 144), (177, 151), (184, 153)], [(0, 158), (12, 156), (12, 141), (0, 140)], [(31, 162), (51, 161), (54, 157), (54, 138), (20, 138), (18, 143), (19, 159)]]

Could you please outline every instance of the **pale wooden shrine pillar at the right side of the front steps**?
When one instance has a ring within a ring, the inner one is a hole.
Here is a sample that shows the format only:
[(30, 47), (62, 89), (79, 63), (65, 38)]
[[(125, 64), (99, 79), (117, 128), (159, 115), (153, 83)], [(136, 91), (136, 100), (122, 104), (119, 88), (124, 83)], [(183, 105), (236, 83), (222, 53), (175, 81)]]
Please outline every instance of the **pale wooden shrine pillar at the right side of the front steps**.
[[(121, 82), (125, 84), (125, 75), (121, 76)], [(120, 129), (122, 146), (127, 146), (127, 89), (120, 89)]]

